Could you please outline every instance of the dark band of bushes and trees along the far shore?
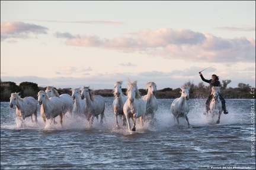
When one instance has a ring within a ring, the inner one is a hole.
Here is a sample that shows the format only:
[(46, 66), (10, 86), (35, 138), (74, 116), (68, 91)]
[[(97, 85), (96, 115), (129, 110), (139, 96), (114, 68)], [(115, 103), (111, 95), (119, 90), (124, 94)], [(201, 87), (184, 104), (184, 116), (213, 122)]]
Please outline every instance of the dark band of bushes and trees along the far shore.
[[(238, 83), (238, 87), (227, 88), (231, 80), (222, 80), (222, 96), (224, 99), (254, 99), (255, 95), (251, 92), (255, 90), (255, 87), (249, 86), (249, 84)], [(206, 99), (210, 94), (210, 86), (205, 86), (206, 83), (201, 81), (198, 85), (195, 85), (191, 81), (187, 81), (183, 85), (190, 86), (190, 99)], [(37, 100), (37, 93), (40, 90), (46, 90), (46, 87), (38, 87), (36, 83), (22, 82), (19, 85), (12, 81), (1, 80), (1, 102), (9, 102), (11, 93), (20, 92), (21, 97), (32, 96)], [(59, 94), (70, 94), (71, 88), (56, 89)], [(104, 97), (113, 97), (113, 89), (94, 90), (94, 94), (99, 94)], [(126, 93), (126, 89), (122, 89), (123, 93)], [(147, 91), (145, 89), (139, 89), (140, 94), (145, 95)], [(175, 99), (180, 97), (180, 88), (171, 89), (169, 87), (161, 90), (157, 90), (156, 99)]]

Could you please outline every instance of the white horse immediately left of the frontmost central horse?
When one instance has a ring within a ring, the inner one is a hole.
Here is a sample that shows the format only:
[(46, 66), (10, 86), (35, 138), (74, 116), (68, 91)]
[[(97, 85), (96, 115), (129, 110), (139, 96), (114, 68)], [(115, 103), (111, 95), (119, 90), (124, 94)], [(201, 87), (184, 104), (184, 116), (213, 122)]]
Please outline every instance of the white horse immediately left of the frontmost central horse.
[(119, 129), (119, 123), (117, 121), (118, 116), (121, 116), (122, 121), (123, 121), (123, 126), (126, 126), (126, 117), (124, 115), (123, 112), (123, 106), (124, 103), (127, 100), (127, 96), (124, 95), (121, 91), (121, 84), (123, 84), (123, 81), (116, 81), (116, 83), (114, 83), (114, 90), (113, 90), (113, 94), (114, 94), (114, 101), (113, 101), (113, 110), (114, 110), (114, 116), (116, 119), (116, 128)]

